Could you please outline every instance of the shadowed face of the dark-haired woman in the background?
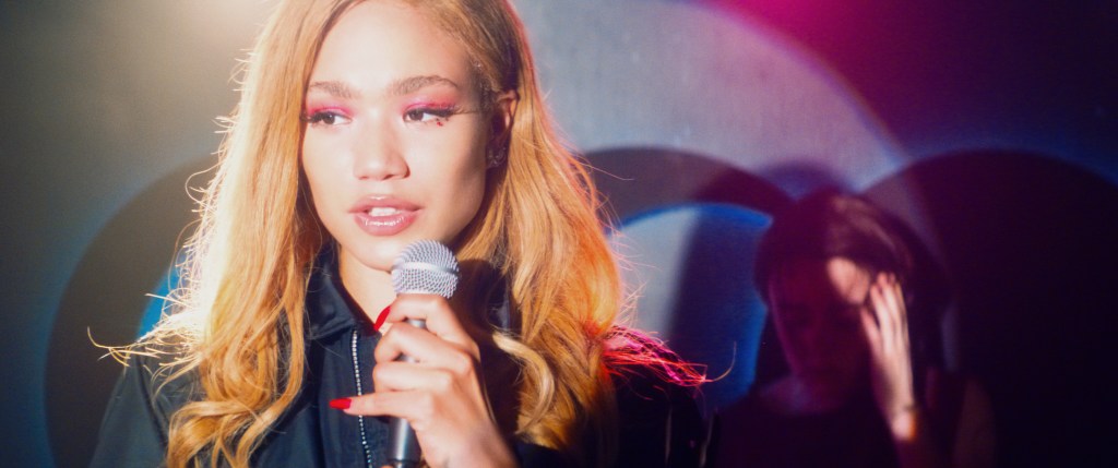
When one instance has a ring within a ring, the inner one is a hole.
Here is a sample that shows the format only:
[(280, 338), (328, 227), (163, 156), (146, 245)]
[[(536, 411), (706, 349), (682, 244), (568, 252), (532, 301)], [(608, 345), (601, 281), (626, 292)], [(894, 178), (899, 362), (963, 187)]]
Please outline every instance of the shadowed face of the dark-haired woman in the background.
[(796, 259), (769, 281), (771, 311), (793, 375), (816, 398), (844, 401), (868, 369), (861, 314), (870, 273), (850, 259)]

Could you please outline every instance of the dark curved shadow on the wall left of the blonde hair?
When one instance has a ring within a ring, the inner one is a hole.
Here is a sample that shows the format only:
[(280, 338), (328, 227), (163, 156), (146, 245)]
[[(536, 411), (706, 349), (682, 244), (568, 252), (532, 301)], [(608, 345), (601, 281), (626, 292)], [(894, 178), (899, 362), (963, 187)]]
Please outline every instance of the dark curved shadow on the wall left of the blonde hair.
[(171, 267), (176, 241), (193, 218), (184, 183), (208, 157), (163, 176), (116, 213), (89, 243), (55, 317), (47, 354), (47, 424), (55, 462), (89, 464), (120, 363), (91, 343), (136, 338), (146, 294)]

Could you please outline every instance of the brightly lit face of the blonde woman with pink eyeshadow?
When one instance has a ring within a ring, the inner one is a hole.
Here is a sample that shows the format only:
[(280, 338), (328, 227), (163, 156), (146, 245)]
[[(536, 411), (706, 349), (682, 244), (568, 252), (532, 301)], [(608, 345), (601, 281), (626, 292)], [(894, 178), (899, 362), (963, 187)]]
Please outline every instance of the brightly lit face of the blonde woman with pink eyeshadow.
[(485, 191), (491, 115), (458, 42), (415, 9), (368, 1), (326, 34), (307, 84), (302, 164), (342, 261), (388, 270), (449, 243)]

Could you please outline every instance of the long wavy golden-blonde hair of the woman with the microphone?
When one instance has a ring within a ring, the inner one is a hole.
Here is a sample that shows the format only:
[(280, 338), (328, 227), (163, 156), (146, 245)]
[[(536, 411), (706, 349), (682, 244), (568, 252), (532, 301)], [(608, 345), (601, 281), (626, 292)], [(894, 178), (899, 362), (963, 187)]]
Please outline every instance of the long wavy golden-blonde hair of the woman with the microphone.
[[(179, 311), (133, 347), (173, 343), (169, 380), (197, 375), (200, 400), (171, 418), (169, 467), (247, 466), (304, 383), (306, 285), (330, 239), (301, 175), (301, 114), (320, 45), (357, 1), (282, 1), (247, 61), (171, 297)], [(504, 0), (386, 1), (418, 8), (459, 39), (483, 98), (519, 97), (506, 146), (493, 149), (508, 152), (505, 163), (491, 170), (483, 208), (455, 247), (464, 266), (486, 265), (508, 285), (518, 326), (487, 329), (520, 367), (517, 436), (605, 465), (617, 442), (609, 363), (648, 355), (607, 345), (624, 305), (618, 273), (590, 178), (552, 128), (523, 27)], [(492, 275), (465, 269), (464, 284), (484, 280)], [(477, 311), (483, 299), (456, 302)]]

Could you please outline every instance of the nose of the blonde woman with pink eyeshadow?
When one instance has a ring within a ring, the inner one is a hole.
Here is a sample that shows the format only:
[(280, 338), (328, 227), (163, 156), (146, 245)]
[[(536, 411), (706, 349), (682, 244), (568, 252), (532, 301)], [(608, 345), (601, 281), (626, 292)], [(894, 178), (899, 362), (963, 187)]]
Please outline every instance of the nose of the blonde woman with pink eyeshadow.
[(358, 180), (389, 180), (408, 173), (402, 141), (390, 122), (368, 122), (353, 139), (350, 151)]

